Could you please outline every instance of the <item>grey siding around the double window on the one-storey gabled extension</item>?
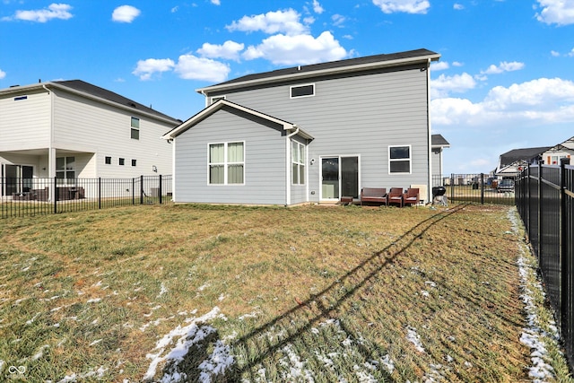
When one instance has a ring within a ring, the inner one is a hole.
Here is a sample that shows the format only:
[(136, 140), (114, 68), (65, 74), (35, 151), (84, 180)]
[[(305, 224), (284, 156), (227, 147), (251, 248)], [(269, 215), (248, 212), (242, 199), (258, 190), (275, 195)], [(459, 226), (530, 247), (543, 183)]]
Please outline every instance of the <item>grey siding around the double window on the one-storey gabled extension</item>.
[[(220, 109), (176, 138), (175, 200), (187, 203), (285, 204), (282, 126)], [(208, 145), (243, 142), (244, 185), (208, 184)]]

